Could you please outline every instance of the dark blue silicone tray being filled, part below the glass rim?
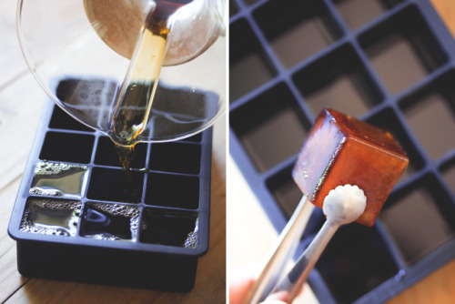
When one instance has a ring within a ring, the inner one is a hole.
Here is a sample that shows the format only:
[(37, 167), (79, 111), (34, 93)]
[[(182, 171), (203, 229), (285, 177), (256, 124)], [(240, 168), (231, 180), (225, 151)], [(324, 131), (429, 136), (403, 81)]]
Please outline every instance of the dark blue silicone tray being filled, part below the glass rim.
[(129, 183), (112, 141), (49, 101), (8, 229), (19, 272), (192, 289), (208, 248), (211, 132), (137, 144)]

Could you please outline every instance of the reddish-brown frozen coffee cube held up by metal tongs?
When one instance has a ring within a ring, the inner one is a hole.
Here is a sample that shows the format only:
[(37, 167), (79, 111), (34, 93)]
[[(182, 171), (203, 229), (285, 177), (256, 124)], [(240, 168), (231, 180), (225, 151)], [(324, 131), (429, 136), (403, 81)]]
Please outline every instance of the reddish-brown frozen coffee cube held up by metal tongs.
[(319, 208), (331, 189), (357, 185), (367, 197), (367, 208), (357, 221), (372, 226), (408, 163), (389, 132), (326, 108), (309, 132), (292, 175)]

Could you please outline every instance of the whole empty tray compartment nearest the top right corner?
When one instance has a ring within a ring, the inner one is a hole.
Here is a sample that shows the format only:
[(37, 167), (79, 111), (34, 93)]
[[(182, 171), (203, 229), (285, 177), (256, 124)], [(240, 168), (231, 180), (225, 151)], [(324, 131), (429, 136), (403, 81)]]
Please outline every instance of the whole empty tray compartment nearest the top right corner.
[(408, 6), (359, 37), (389, 93), (420, 82), (448, 60), (416, 6)]

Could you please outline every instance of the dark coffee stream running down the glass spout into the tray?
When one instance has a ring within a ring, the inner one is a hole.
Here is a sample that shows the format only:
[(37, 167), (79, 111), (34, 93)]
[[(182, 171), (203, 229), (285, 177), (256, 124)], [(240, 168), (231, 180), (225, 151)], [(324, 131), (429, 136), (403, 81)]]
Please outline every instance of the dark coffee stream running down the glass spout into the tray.
[[(148, 120), (157, 90), (159, 72), (166, 50), (171, 22), (177, 5), (158, 2), (147, 15), (136, 42), (136, 50), (120, 88), (108, 135), (114, 140), (120, 162), (126, 172), (134, 157), (134, 147)], [(126, 178), (131, 179), (130, 177)]]

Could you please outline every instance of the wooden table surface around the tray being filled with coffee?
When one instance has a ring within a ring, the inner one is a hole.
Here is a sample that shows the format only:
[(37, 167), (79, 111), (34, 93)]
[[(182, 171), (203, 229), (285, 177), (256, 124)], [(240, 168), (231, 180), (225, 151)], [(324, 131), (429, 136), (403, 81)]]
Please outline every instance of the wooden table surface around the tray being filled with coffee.
[[(50, 8), (51, 9), (51, 8)], [(209, 250), (188, 293), (127, 289), (21, 277), (7, 226), (45, 93), (25, 65), (15, 32), (16, 1), (0, 0), (0, 302), (225, 303), (226, 119), (214, 128)]]

